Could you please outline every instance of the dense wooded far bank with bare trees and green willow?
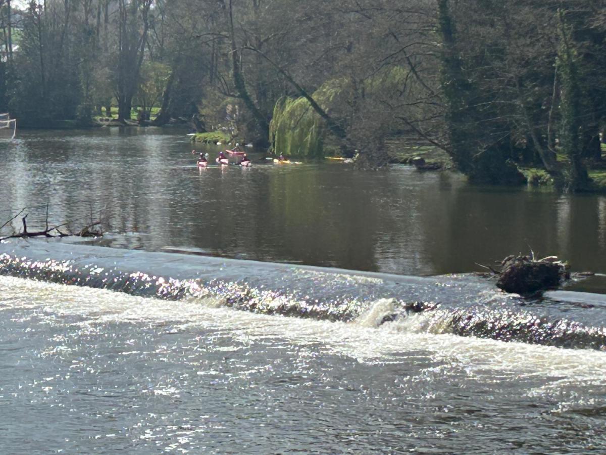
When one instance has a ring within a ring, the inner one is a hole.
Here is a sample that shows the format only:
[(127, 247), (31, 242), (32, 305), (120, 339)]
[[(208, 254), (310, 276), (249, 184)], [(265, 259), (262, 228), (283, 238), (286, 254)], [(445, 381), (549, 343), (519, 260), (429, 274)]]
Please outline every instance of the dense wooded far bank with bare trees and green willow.
[[(605, 0), (0, 0), (0, 112), (23, 125), (195, 120), (381, 166), (439, 147), (471, 181), (591, 187)], [(133, 109), (135, 108), (135, 109)]]

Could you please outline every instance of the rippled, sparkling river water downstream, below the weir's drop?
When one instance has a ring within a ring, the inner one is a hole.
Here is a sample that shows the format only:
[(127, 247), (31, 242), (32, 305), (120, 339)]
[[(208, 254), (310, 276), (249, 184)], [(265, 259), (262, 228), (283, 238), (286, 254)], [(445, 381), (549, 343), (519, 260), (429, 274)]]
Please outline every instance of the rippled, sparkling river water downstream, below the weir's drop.
[(587, 453), (606, 354), (0, 277), (4, 453)]

